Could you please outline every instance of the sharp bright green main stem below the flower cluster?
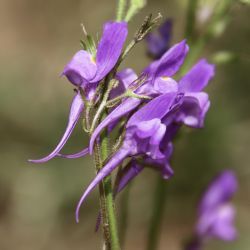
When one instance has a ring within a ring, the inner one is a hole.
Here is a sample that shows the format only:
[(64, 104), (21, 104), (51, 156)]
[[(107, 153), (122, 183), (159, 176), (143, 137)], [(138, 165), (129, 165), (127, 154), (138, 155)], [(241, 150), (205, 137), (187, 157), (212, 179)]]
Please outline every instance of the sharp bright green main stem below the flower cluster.
[[(109, 138), (107, 131), (103, 132), (100, 144), (101, 144), (101, 159), (102, 162), (104, 162), (109, 155)], [(103, 223), (107, 224), (104, 225), (106, 232), (108, 232), (107, 233), (108, 238), (105, 237), (105, 240), (109, 241), (105, 245), (108, 246), (107, 250), (120, 250), (111, 175), (107, 176), (104, 179), (103, 187), (104, 187), (104, 197), (105, 197), (105, 209), (102, 212), (105, 213), (105, 215), (103, 216), (104, 218), (106, 218), (106, 221), (103, 221)]]

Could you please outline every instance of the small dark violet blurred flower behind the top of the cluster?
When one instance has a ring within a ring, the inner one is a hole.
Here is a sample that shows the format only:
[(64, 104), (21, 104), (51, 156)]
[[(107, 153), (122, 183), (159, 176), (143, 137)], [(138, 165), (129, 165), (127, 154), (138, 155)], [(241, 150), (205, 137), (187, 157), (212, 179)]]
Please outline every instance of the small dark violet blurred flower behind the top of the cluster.
[(167, 19), (158, 29), (158, 33), (149, 33), (146, 37), (148, 54), (159, 59), (169, 48), (172, 37), (172, 20)]

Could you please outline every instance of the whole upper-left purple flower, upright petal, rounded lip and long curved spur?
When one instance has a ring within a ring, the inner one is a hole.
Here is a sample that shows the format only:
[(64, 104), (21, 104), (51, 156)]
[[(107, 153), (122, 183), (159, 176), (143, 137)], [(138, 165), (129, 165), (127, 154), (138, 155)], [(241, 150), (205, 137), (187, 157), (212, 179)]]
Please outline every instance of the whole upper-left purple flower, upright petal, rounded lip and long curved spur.
[[(113, 69), (117, 63), (122, 47), (127, 37), (126, 22), (107, 22), (103, 28), (103, 35), (98, 44), (96, 57), (88, 51), (80, 50), (65, 67), (62, 75), (65, 75), (71, 83), (82, 88), (84, 98), (90, 100), (93, 97), (98, 83)], [(30, 160), (34, 163), (44, 163), (50, 159), (61, 156), (77, 158), (88, 153), (87, 150), (73, 155), (60, 154), (61, 149), (70, 137), (75, 125), (83, 113), (84, 102), (80, 91), (73, 98), (69, 121), (63, 137), (56, 148), (46, 157), (38, 160)]]

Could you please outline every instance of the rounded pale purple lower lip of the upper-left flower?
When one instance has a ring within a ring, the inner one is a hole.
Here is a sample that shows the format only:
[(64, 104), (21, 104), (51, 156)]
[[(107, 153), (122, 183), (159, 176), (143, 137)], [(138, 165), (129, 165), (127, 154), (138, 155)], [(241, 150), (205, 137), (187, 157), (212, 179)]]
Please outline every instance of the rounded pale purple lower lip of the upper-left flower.
[(96, 64), (91, 56), (85, 50), (78, 51), (71, 61), (66, 65), (62, 75), (74, 85), (81, 85), (84, 81), (90, 81), (96, 75)]

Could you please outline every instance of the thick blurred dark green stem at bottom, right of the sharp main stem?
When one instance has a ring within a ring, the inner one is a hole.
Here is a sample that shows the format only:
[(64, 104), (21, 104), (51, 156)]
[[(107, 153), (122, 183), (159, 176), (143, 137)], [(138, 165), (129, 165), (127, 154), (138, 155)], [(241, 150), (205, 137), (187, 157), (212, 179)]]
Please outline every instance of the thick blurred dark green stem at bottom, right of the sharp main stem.
[(153, 211), (151, 221), (149, 223), (147, 250), (156, 250), (158, 247), (161, 223), (164, 216), (164, 208), (166, 203), (167, 183), (161, 176), (158, 177), (154, 197)]

